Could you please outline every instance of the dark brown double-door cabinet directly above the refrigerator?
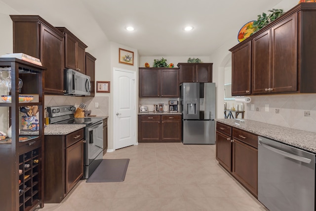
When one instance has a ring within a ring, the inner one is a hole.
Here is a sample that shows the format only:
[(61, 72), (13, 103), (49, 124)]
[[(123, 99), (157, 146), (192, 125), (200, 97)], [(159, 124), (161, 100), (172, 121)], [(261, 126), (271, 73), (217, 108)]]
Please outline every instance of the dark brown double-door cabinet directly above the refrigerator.
[(178, 63), (180, 83), (212, 82), (213, 63)]

